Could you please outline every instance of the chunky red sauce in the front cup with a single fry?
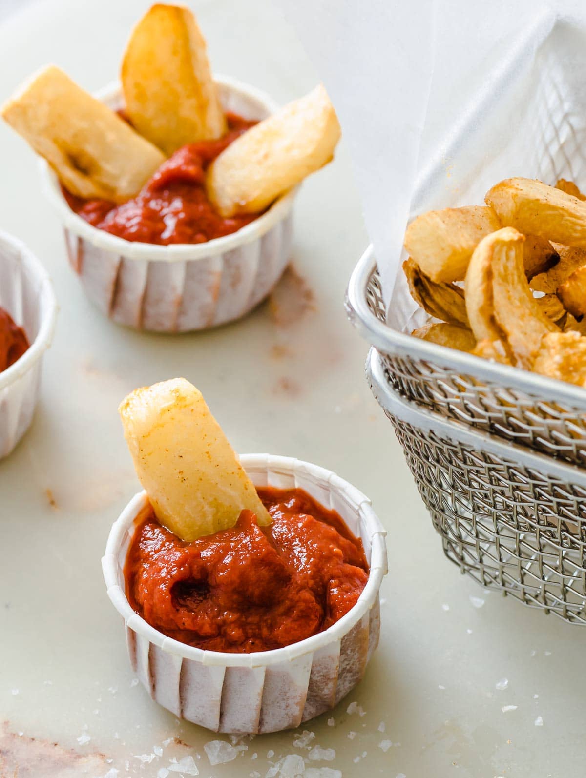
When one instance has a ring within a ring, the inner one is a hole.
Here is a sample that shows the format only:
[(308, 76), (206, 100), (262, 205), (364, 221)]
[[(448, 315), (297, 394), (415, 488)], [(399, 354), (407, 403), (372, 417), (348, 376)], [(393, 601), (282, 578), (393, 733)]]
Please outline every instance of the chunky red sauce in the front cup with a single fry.
[(258, 489), (272, 517), (243, 510), (235, 527), (187, 543), (152, 510), (125, 564), (135, 612), (203, 649), (250, 653), (289, 646), (341, 619), (368, 579), (362, 541), (303, 489)]

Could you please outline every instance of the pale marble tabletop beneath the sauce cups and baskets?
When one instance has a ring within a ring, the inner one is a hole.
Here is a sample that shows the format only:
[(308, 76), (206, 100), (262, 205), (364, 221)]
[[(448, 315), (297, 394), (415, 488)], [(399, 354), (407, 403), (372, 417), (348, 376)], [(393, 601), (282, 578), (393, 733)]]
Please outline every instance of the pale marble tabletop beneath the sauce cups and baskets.
[[(44, 0), (9, 17), (0, 27), (0, 99), (47, 61), (89, 89), (110, 82), (128, 30), (147, 5)], [(194, 7), (218, 72), (281, 101), (317, 80), (267, 0)], [(297, 209), (294, 259), (316, 310), (279, 328), (261, 307), (239, 324), (181, 337), (118, 328), (86, 303), (38, 189), (36, 162), (4, 126), (0, 171), (0, 226), (50, 268), (61, 303), (33, 428), (0, 463), (0, 720), (24, 733), (23, 751), (30, 753), (30, 737), (101, 752), (114, 761), (78, 762), (68, 775), (104, 776), (115, 768), (119, 778), (164, 776), (170, 759), (189, 755), (202, 776), (256, 771), (264, 778), (294, 754), (344, 778), (581, 776), (580, 628), (483, 594), (444, 560), (391, 426), (363, 379), (367, 346), (346, 322), (342, 297), (367, 237), (344, 149), (307, 181)], [(177, 722), (133, 683), (100, 572), (109, 527), (137, 488), (116, 408), (133, 387), (175, 375), (201, 387), (237, 449), (338, 471), (371, 496), (388, 527), (381, 647), (360, 687), (333, 713), (335, 725), (325, 716), (306, 727), (315, 733), (310, 745), (335, 749), (330, 761), (310, 759), (309, 748), (293, 745), (297, 734), (286, 732), (245, 741), (233, 762), (212, 766), (204, 745), (214, 735)], [(475, 608), (471, 597), (484, 605)], [(363, 716), (356, 706), (347, 712), (354, 701)], [(187, 745), (162, 745), (174, 736)], [(300, 763), (289, 758), (283, 770)], [(48, 770), (48, 755), (43, 764)], [(21, 770), (19, 778), (44, 774)]]

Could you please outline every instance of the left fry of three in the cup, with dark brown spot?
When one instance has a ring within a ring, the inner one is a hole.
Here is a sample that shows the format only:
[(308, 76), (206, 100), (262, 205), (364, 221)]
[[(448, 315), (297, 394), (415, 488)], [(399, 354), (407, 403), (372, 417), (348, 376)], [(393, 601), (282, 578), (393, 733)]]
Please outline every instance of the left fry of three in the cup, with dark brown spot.
[(2, 107), (2, 117), (82, 198), (123, 202), (165, 157), (113, 110), (49, 65)]

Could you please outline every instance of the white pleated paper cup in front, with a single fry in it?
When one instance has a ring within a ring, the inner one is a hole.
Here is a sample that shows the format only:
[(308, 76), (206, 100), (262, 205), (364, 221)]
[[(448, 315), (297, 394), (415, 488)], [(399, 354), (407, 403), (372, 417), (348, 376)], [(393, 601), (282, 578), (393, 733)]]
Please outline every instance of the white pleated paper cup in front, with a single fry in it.
[(269, 454), (244, 454), (240, 461), (254, 485), (305, 489), (362, 538), (370, 574), (342, 619), (307, 640), (254, 654), (206, 651), (158, 632), (125, 595), (125, 559), (135, 518), (147, 504), (145, 492), (135, 495), (114, 523), (102, 567), (108, 596), (125, 620), (132, 667), (157, 703), (216, 732), (276, 732), (329, 710), (362, 678), (380, 632), (386, 533), (370, 500), (324, 468)]

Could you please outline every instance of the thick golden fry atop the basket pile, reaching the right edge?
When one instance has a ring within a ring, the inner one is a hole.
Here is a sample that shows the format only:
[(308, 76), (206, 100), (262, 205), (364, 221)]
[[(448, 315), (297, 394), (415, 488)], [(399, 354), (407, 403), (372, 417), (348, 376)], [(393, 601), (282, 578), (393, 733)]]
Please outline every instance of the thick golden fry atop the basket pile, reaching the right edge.
[(507, 178), (486, 194), (501, 223), (526, 235), (586, 248), (586, 202), (529, 178)]

